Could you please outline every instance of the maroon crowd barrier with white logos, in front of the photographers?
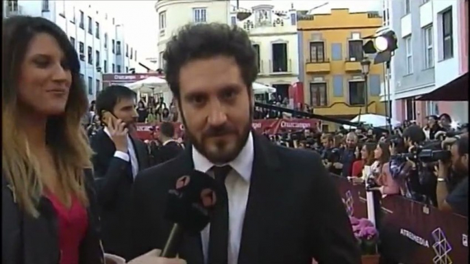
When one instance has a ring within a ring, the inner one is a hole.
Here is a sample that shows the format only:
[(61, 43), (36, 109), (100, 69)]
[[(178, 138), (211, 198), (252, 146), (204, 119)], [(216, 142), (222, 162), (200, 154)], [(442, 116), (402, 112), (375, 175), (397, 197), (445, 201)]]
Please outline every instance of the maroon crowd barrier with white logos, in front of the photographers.
[[(367, 217), (363, 185), (333, 174), (349, 215)], [(468, 218), (438, 210), (403, 196), (381, 200), (381, 254), (404, 264), (469, 263)]]

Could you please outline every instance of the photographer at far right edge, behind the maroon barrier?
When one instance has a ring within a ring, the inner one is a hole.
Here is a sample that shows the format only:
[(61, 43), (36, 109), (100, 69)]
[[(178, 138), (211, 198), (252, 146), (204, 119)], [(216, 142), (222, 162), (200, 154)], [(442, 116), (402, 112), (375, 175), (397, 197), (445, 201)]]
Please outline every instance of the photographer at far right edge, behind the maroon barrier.
[[(443, 211), (454, 211), (468, 216), (469, 203), (469, 137), (460, 137), (451, 147), (450, 162), (438, 161), (437, 200)], [(452, 186), (451, 171), (458, 177), (458, 183)]]

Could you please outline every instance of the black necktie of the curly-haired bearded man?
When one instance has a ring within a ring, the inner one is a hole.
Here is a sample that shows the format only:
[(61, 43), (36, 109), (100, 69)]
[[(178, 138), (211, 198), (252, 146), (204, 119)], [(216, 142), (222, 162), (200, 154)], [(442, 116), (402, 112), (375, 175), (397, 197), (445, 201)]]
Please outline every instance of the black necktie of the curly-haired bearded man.
[(212, 167), (219, 192), (214, 214), (210, 221), (208, 264), (227, 264), (228, 249), (228, 196), (225, 179), (232, 170), (230, 166)]

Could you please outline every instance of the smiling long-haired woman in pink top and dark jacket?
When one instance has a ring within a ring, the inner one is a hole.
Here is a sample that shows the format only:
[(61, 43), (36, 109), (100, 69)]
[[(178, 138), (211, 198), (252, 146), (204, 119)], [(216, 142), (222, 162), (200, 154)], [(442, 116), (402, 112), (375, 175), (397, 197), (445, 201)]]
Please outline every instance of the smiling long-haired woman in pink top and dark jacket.
[(104, 263), (77, 53), (45, 18), (2, 27), (1, 263)]

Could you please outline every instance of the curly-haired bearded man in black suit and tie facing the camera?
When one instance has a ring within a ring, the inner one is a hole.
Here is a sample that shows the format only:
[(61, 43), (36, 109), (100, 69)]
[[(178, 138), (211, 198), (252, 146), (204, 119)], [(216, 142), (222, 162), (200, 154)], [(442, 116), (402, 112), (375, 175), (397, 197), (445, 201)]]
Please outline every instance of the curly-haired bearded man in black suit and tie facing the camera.
[(226, 196), (200, 235), (184, 237), (179, 256), (188, 264), (358, 264), (344, 204), (319, 155), (251, 130), (258, 75), (251, 44), (243, 29), (218, 23), (188, 25), (167, 44), (166, 81), (192, 145), (137, 176), (131, 256), (164, 246), (166, 194), (200, 170)]

